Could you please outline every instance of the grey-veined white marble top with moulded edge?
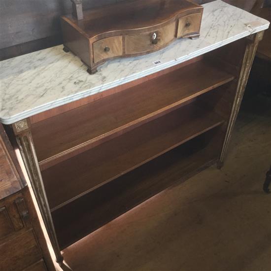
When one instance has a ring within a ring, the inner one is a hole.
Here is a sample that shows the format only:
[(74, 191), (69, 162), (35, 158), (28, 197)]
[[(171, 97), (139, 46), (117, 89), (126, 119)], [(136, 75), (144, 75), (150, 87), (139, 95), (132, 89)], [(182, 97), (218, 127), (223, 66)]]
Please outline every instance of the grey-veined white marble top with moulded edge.
[[(105, 91), (268, 29), (269, 22), (221, 0), (203, 4), (199, 39), (174, 41), (145, 56), (106, 62), (89, 75), (62, 45), (0, 62), (0, 121), (11, 124)], [(154, 62), (160, 60), (161, 64)], [(146, 90), (147, 91), (147, 90)]]

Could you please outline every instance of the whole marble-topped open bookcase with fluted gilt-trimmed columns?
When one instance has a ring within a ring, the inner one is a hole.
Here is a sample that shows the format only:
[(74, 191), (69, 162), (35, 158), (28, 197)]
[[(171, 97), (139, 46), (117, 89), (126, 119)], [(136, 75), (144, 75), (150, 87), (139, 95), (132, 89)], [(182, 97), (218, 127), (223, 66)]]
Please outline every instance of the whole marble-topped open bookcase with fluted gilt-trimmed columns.
[(62, 249), (139, 203), (223, 166), (268, 27), (215, 1), (204, 6), (199, 39), (108, 62), (92, 76), (60, 47), (3, 63), (1, 121), (16, 137), (58, 262)]

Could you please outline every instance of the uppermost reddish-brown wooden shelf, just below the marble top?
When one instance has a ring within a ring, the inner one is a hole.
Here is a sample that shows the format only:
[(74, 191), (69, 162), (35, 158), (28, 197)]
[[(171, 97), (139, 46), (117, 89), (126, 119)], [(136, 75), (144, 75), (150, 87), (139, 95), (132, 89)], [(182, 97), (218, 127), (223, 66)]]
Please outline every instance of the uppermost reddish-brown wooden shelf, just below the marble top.
[(53, 166), (233, 79), (221, 67), (201, 60), (34, 123), (39, 165), (41, 169)]

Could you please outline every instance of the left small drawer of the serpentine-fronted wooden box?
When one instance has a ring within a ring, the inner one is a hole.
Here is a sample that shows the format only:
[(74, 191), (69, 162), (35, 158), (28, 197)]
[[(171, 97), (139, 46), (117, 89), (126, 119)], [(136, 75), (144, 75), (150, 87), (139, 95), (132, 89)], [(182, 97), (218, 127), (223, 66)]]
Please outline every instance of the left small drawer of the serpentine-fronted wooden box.
[(94, 63), (122, 55), (122, 36), (107, 37), (93, 43)]

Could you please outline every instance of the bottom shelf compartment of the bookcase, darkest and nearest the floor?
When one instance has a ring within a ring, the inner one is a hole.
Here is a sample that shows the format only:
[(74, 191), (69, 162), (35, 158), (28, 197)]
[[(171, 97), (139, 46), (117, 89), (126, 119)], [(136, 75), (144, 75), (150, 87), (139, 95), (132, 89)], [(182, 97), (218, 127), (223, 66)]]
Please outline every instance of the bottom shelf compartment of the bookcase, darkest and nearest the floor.
[(220, 127), (199, 135), (147, 164), (52, 212), (61, 249), (134, 206), (182, 182), (219, 156)]

